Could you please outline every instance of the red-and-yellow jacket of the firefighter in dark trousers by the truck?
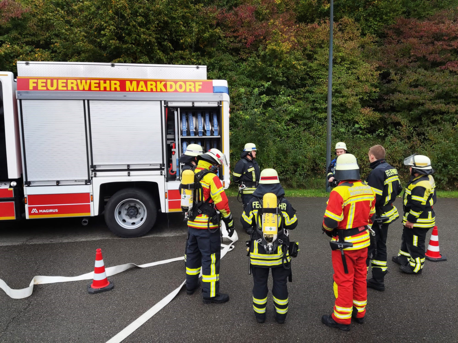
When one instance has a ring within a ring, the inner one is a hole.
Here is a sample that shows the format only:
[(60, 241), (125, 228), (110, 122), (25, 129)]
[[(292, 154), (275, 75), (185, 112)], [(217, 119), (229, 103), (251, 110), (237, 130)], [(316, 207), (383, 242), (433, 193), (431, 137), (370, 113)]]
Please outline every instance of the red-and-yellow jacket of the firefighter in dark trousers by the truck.
[[(194, 174), (202, 170), (209, 170), (210, 166), (212, 166), (211, 163), (201, 160), (197, 163)], [(223, 215), (223, 218), (229, 217), (229, 201), (219, 177), (215, 173), (209, 172), (202, 177), (200, 184), (202, 186), (202, 192), (200, 192), (200, 190), (196, 191), (196, 201), (200, 202), (209, 200), (208, 202), (210, 204), (215, 204), (215, 209)], [(206, 214), (199, 214), (194, 220), (188, 220), (188, 226), (195, 229), (216, 229), (219, 226), (218, 221), (216, 223), (210, 222), (210, 224), (208, 224), (209, 220), (210, 218), (208, 218)]]

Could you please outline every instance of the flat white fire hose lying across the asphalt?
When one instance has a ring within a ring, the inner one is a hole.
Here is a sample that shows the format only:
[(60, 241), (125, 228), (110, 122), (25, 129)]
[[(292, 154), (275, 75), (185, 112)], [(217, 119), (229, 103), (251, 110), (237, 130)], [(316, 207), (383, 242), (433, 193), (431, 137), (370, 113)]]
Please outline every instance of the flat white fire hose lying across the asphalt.
[[(237, 241), (239, 237), (237, 236), (237, 232), (234, 232), (233, 236), (229, 237), (227, 230), (225, 228), (224, 222), (221, 223), (221, 229), (223, 231), (223, 239), (230, 241), (228, 245), (221, 244), (221, 247), (223, 248), (221, 250), (221, 258), (223, 258), (227, 252), (234, 249), (234, 246), (232, 244), (235, 241)], [(140, 264), (140, 265), (137, 265), (135, 263), (120, 264), (118, 266), (105, 268), (105, 273), (107, 274), (107, 277), (109, 277), (109, 276), (112, 276), (118, 273), (122, 273), (133, 267), (148, 268), (148, 267), (153, 267), (153, 266), (157, 266), (160, 264), (166, 264), (166, 263), (175, 262), (175, 261), (182, 261), (184, 259), (185, 257), (182, 256), (182, 257), (169, 258), (168, 260)], [(5, 283), (5, 281), (0, 279), (0, 288), (3, 289), (5, 293), (13, 299), (23, 299), (23, 298), (27, 298), (28, 296), (32, 295), (33, 285), (35, 284), (54, 284), (54, 283), (59, 283), (59, 282), (92, 280), (93, 275), (94, 275), (94, 272), (85, 273), (85, 274), (78, 275), (78, 276), (71, 276), (71, 277), (38, 275), (38, 276), (33, 277), (32, 281), (30, 282), (27, 288), (23, 288), (23, 289), (11, 289)], [(199, 274), (199, 278), (201, 276), (202, 276), (202, 271)], [(156, 313), (162, 310), (165, 305), (167, 305), (170, 301), (172, 301), (174, 297), (180, 292), (180, 289), (183, 287), (185, 283), (186, 283), (186, 280), (183, 281), (183, 283), (180, 284), (178, 288), (174, 289), (174, 291), (172, 291), (169, 295), (165, 296), (156, 305), (154, 305), (148, 311), (143, 313), (142, 316), (138, 317), (135, 321), (131, 322), (131, 324), (125, 327), (121, 332), (117, 333), (113, 338), (109, 339), (106, 343), (118, 343), (118, 342), (123, 341), (132, 332), (134, 332), (136, 329), (141, 327), (145, 322), (147, 322), (152, 316), (154, 316)]]

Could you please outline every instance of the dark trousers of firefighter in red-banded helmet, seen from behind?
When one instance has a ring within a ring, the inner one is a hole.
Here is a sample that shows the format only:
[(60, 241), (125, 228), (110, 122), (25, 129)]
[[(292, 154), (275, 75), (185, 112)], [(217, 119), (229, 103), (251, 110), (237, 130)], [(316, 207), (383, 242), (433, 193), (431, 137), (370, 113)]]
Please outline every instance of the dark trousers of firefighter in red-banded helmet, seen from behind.
[(253, 275), (253, 310), (256, 318), (266, 319), (267, 307), (267, 279), (269, 278), (269, 269), (272, 269), (272, 296), (273, 305), (275, 306), (275, 316), (278, 320), (284, 320), (288, 313), (288, 276), (291, 269), (285, 269), (283, 266), (262, 268), (251, 265), (251, 274)]

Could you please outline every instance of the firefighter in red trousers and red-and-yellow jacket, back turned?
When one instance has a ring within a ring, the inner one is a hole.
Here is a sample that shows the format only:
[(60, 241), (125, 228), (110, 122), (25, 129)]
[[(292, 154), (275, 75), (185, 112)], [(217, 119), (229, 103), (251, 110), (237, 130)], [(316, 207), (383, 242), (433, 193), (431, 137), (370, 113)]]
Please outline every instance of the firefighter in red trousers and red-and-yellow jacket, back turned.
[(368, 225), (375, 214), (375, 193), (360, 180), (360, 168), (351, 154), (337, 158), (339, 182), (329, 195), (322, 230), (332, 237), (334, 312), (321, 318), (323, 324), (349, 331), (350, 322), (364, 323), (367, 304)]

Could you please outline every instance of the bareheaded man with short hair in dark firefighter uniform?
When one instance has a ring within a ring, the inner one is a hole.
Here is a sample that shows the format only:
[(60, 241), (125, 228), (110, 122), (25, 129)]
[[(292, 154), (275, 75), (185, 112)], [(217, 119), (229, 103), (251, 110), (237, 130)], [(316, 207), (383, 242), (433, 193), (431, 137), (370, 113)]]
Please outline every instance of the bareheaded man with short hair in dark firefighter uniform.
[[(367, 287), (384, 291), (384, 278), (387, 273), (388, 225), (399, 218), (398, 209), (393, 205), (393, 202), (401, 193), (402, 187), (398, 171), (385, 161), (386, 152), (382, 145), (372, 146), (368, 155), (372, 170), (366, 181), (376, 194), (376, 220), (372, 225), (375, 240), (371, 241), (371, 246), (368, 249), (367, 266), (369, 266), (369, 257), (372, 254), (372, 278), (367, 280)], [(382, 218), (384, 219), (383, 222), (379, 223)]]

